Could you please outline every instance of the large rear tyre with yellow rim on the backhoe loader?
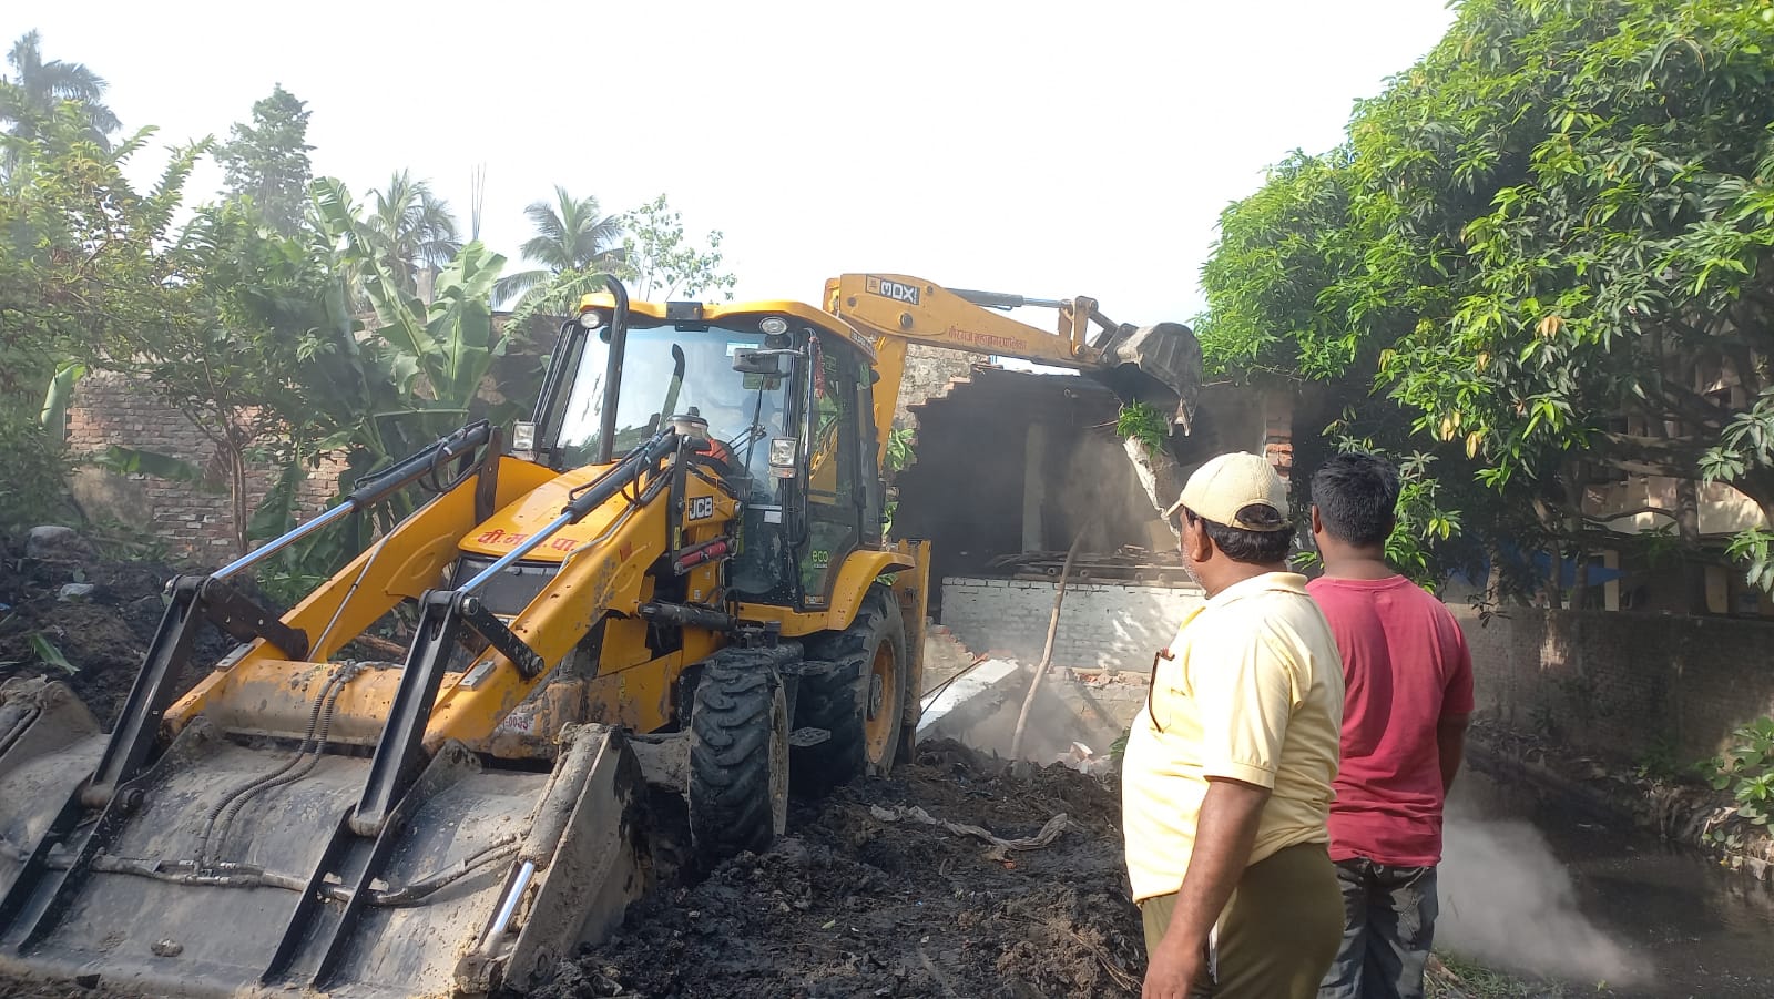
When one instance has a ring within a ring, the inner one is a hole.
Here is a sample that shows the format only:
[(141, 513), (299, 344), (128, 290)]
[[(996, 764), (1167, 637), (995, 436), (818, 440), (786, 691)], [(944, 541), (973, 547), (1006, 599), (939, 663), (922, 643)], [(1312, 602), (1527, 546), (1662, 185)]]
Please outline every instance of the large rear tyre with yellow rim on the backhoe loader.
[(837, 669), (800, 681), (795, 728), (821, 728), (832, 738), (793, 751), (795, 793), (820, 797), (862, 774), (885, 775), (901, 742), (908, 662), (892, 591), (871, 586), (848, 628), (807, 641), (807, 658)]

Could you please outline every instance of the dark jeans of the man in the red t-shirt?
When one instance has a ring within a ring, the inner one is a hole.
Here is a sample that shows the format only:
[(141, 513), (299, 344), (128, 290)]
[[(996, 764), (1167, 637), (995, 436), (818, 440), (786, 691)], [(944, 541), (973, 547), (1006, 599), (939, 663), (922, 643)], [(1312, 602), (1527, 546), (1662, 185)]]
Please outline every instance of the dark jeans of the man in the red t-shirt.
[(1364, 857), (1336, 862), (1343, 946), (1318, 999), (1423, 999), (1435, 939), (1435, 868), (1394, 868)]

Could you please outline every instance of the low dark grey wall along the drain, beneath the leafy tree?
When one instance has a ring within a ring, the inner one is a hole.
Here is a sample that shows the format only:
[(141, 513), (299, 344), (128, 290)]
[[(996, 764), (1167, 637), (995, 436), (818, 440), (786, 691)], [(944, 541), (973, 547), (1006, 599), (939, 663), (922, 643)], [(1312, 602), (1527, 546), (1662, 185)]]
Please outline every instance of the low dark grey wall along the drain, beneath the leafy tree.
[(1511, 609), (1481, 626), (1455, 614), (1478, 708), (1575, 749), (1637, 759), (1662, 745), (1701, 759), (1774, 715), (1774, 623)]

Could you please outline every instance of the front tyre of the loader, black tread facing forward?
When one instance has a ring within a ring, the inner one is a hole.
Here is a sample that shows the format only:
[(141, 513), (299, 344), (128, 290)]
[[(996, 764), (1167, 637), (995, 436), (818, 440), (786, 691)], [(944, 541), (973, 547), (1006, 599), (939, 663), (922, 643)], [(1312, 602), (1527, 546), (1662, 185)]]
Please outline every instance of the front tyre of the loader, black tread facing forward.
[(690, 846), (763, 852), (788, 825), (788, 699), (768, 662), (703, 667), (690, 710)]

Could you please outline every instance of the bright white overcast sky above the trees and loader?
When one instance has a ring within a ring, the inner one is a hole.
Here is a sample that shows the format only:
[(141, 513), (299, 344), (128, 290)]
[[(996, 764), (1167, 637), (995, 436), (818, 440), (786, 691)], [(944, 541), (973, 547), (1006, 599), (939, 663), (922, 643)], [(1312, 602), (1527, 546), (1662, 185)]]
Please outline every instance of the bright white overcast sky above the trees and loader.
[[(282, 12), (275, 12), (282, 11)], [(1263, 167), (1334, 146), (1409, 67), (1439, 0), (0, 5), (0, 41), (110, 82), (126, 128), (225, 137), (282, 83), (318, 176), (408, 167), (516, 256), (552, 185), (621, 211), (667, 193), (726, 231), (740, 298), (828, 275), (1091, 295), (1189, 319), (1219, 211)], [(144, 167), (154, 165), (147, 160)], [(149, 170), (151, 172), (151, 170)], [(206, 170), (193, 192), (220, 185)]]

